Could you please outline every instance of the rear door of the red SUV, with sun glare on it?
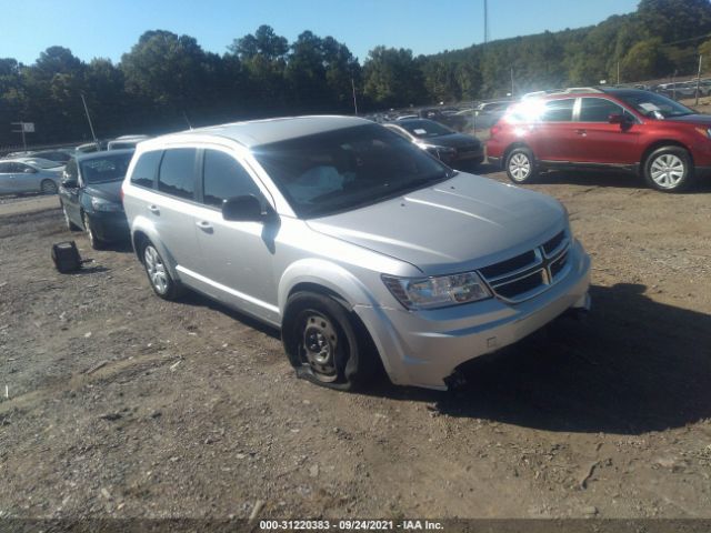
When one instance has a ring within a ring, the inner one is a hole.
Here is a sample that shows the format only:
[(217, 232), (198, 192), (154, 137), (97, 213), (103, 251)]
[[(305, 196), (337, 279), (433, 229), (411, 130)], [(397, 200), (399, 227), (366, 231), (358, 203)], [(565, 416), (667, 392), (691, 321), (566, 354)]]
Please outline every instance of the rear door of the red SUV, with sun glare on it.
[(571, 161), (577, 124), (573, 122), (575, 98), (543, 101), (529, 144), (540, 161)]

